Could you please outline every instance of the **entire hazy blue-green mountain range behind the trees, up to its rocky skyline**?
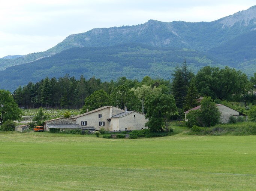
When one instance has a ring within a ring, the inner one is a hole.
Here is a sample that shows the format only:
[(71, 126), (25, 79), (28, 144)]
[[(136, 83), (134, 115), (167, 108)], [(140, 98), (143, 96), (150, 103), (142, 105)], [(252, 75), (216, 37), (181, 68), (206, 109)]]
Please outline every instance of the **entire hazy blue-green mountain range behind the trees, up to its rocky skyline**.
[(256, 6), (212, 22), (150, 20), (136, 26), (95, 28), (69, 35), (45, 52), (0, 59), (4, 82), (0, 88), (13, 90), (28, 81), (66, 73), (94, 75), (103, 81), (118, 76), (140, 80), (145, 75), (170, 79), (185, 58), (194, 72), (219, 64), (251, 76), (256, 72), (255, 31)]

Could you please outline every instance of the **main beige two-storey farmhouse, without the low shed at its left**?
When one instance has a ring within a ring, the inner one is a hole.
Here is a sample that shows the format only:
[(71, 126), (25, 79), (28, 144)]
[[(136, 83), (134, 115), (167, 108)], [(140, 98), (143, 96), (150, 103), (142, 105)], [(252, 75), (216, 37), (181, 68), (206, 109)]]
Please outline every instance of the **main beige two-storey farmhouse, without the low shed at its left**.
[(145, 115), (136, 111), (127, 111), (114, 106), (104, 106), (74, 116), (78, 125), (84, 128), (104, 128), (106, 131), (126, 131), (145, 128)]

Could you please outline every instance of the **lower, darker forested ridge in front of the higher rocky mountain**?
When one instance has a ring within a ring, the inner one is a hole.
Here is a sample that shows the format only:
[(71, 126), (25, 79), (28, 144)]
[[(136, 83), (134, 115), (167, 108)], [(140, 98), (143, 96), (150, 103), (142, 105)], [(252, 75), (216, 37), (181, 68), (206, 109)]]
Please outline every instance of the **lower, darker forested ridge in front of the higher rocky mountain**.
[[(116, 80), (125, 76), (138, 79), (146, 75), (151, 78), (171, 79), (175, 67), (190, 63), (194, 72), (202, 66), (220, 66), (211, 58), (187, 48), (156, 48), (144, 44), (127, 43), (110, 47), (70, 48), (51, 57), (35, 62), (9, 67), (0, 71), (0, 89), (15, 90), (18, 85), (65, 74), (79, 79), (95, 76), (102, 81)], [(221, 67), (221, 66), (220, 66)]]

